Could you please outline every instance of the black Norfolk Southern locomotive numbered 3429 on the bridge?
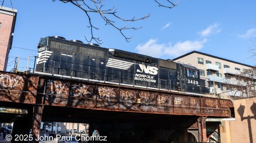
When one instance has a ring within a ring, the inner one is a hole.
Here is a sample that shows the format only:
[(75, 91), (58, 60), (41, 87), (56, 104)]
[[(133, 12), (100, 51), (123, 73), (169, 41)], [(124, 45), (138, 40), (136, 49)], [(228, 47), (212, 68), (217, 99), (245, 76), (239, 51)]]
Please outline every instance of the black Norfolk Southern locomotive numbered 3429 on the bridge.
[(36, 73), (204, 94), (209, 89), (196, 67), (62, 37), (41, 38)]

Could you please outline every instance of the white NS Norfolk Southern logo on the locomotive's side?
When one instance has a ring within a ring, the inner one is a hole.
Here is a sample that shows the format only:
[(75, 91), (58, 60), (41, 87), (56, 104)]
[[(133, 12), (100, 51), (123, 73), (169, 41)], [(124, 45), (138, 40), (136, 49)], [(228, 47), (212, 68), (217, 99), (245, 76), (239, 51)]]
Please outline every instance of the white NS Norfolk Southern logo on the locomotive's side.
[[(140, 69), (137, 69), (137, 72), (140, 73), (146, 73), (146, 74), (139, 74), (136, 73), (134, 80), (141, 80), (141, 81), (148, 81), (148, 82), (156, 82), (157, 80), (154, 79), (154, 75), (157, 75), (158, 68), (157, 67), (151, 67), (151, 66), (145, 66), (142, 64), (139, 64)], [(150, 75), (147, 75), (150, 74)]]

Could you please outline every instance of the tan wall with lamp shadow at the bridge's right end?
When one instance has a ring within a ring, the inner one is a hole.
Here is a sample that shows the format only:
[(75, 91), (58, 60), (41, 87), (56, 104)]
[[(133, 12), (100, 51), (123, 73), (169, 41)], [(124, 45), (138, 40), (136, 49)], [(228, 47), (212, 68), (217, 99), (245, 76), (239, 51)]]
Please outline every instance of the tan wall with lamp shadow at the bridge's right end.
[(256, 97), (234, 100), (235, 121), (229, 121), (232, 143), (256, 142)]

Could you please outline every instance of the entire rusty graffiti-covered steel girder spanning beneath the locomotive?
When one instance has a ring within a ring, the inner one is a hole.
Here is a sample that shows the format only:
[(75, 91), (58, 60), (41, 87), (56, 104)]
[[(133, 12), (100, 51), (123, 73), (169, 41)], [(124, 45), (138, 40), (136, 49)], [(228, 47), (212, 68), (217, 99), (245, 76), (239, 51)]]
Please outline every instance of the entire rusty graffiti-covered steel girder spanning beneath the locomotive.
[(233, 107), (225, 99), (3, 71), (0, 101), (206, 117), (230, 117)]

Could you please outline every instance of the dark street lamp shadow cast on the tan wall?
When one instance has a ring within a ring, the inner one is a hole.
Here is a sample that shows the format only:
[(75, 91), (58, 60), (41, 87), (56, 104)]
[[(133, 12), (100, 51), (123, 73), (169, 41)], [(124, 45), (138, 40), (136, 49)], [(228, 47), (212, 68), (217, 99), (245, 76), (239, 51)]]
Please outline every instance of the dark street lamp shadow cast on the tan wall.
[(256, 120), (256, 103), (254, 101), (250, 107), (250, 110), (253, 113), (253, 116), (248, 115), (247, 117), (244, 117), (245, 106), (240, 104), (240, 106), (238, 108), (238, 114), (241, 117), (241, 121), (247, 120), (250, 143), (253, 143), (252, 131), (251, 131), (251, 120), (253, 120), (253, 119)]

